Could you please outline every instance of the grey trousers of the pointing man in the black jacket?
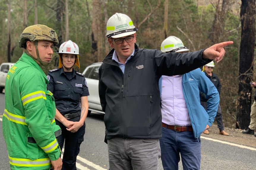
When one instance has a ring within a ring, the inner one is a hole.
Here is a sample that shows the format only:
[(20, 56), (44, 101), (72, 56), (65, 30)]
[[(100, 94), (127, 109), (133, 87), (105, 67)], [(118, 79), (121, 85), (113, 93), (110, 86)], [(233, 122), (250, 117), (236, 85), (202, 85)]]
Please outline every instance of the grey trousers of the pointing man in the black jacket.
[(110, 170), (157, 170), (161, 157), (159, 139), (108, 140)]

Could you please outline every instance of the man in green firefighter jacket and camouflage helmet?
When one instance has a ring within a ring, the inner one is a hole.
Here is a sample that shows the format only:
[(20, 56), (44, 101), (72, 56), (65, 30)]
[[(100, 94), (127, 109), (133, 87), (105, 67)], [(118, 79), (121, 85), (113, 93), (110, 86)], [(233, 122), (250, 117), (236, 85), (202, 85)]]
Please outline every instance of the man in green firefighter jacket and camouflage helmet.
[(9, 69), (5, 84), (2, 120), (10, 168), (60, 170), (61, 129), (55, 123), (53, 94), (41, 66), (48, 66), (53, 48), (59, 43), (56, 32), (46, 25), (26, 27), (19, 46), (20, 59)]

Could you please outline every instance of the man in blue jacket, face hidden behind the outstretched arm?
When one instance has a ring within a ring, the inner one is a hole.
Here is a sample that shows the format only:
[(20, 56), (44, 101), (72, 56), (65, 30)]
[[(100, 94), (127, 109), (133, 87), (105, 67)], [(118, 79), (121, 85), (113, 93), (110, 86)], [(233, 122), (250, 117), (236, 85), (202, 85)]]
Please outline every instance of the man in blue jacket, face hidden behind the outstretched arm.
[[(161, 51), (187, 53), (189, 49), (175, 37), (166, 38)], [(200, 169), (200, 134), (214, 122), (219, 93), (200, 68), (184, 75), (159, 79), (162, 112), (162, 137), (159, 139), (164, 170), (178, 170), (180, 155), (183, 169)], [(200, 105), (199, 91), (206, 94), (207, 111)], [(183, 94), (183, 95), (182, 95)]]

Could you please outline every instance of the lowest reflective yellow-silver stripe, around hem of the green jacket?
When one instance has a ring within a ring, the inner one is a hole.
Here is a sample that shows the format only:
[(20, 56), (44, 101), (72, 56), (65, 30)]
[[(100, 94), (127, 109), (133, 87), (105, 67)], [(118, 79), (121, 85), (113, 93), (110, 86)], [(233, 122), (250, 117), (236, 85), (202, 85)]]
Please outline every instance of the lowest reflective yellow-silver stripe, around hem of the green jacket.
[(9, 156), (9, 162), (11, 165), (14, 165), (14, 166), (26, 166), (26, 167), (28, 166), (38, 167), (38, 166), (51, 165), (50, 158), (31, 160), (31, 159), (24, 159), (24, 158), (12, 158)]

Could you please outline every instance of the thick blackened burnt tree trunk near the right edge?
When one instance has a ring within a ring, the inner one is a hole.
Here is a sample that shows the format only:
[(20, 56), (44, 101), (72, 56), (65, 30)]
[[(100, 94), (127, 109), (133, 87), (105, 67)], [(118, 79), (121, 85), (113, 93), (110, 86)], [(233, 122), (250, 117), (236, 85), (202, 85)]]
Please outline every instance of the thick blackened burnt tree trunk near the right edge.
[(252, 81), (255, 48), (255, 0), (242, 0), (241, 4), (241, 44), (238, 78), (238, 112), (236, 128), (245, 129), (250, 123)]

